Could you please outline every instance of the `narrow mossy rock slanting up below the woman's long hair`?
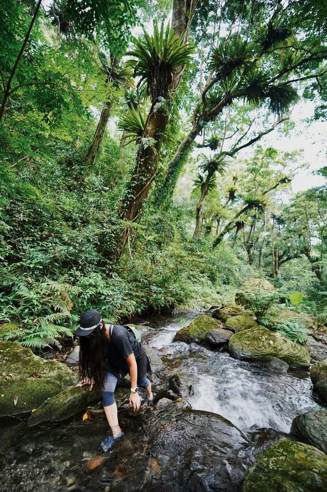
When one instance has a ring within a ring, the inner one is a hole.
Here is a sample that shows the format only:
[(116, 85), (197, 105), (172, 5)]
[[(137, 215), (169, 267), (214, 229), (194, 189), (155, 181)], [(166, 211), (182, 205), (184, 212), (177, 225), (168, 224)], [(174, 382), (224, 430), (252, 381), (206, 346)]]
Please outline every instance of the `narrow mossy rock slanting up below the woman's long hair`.
[(83, 412), (93, 403), (100, 400), (95, 391), (90, 391), (89, 386), (82, 388), (67, 388), (53, 396), (33, 412), (28, 420), (28, 425), (37, 425), (41, 422), (55, 422), (67, 419)]

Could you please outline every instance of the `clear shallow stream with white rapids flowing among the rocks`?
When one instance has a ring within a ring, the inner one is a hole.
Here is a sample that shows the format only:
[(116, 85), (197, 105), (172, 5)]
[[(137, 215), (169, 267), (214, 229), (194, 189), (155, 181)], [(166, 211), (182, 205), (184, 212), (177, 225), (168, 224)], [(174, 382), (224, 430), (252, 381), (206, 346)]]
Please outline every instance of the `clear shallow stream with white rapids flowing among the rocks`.
[[(319, 407), (312, 399), (312, 383), (305, 371), (275, 374), (264, 366), (233, 359), (224, 351), (173, 343), (175, 333), (198, 314), (178, 313), (139, 320), (143, 326), (143, 343), (157, 351), (167, 373), (178, 373), (192, 385), (194, 393), (188, 401), (194, 410), (221, 415), (238, 427), (243, 440), (251, 441), (252, 436), (264, 428), (272, 429), (276, 435), (288, 433), (296, 415)], [(146, 409), (145, 412), (151, 419), (153, 411)], [(5, 492), (142, 490), (148, 483), (142, 483), (147, 479), (147, 470), (156, 473), (158, 464), (154, 458), (145, 457), (147, 446), (142, 444), (142, 438), (147, 431), (142, 417), (120, 412), (119, 418), (125, 438), (115, 444), (112, 452), (99, 458), (101, 466), (95, 466), (94, 471), (89, 463), (99, 455), (98, 445), (107, 432), (103, 415), (90, 422), (83, 422), (78, 415), (68, 422), (43, 424), (37, 428), (20, 422), (0, 429), (2, 489)], [(240, 455), (242, 453), (245, 456), (241, 450)], [(250, 459), (246, 457), (244, 463), (247, 464), (241, 466), (244, 473)], [(152, 490), (146, 486), (147, 491)], [(239, 490), (238, 486), (233, 487), (214, 490)], [(153, 490), (161, 492), (160, 487), (154, 486)], [(164, 490), (179, 488), (164, 487)]]

